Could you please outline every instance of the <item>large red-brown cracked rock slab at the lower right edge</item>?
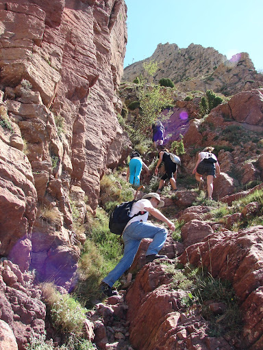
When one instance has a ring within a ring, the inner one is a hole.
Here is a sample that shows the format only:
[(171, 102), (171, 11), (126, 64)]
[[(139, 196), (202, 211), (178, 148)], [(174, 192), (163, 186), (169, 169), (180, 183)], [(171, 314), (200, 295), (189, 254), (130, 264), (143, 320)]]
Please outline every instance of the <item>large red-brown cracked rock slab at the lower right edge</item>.
[(263, 347), (263, 319), (256, 307), (263, 303), (262, 237), (262, 226), (218, 232), (191, 245), (179, 258), (183, 264), (203, 264), (214, 277), (233, 284), (245, 324), (242, 349)]

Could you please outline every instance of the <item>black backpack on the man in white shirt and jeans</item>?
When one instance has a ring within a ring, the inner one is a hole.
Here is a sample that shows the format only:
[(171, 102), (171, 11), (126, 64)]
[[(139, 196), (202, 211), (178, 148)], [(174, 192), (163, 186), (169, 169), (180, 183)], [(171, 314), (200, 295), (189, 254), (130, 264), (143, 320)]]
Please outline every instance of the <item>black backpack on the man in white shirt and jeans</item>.
[(120, 235), (123, 234), (125, 226), (127, 225), (128, 221), (132, 219), (132, 217), (142, 215), (142, 213), (145, 213), (139, 211), (139, 213), (135, 214), (132, 217), (129, 217), (129, 213), (131, 213), (132, 205), (134, 204), (134, 202), (136, 202), (136, 200), (132, 200), (131, 202), (123, 202), (116, 206), (116, 208), (114, 209), (114, 211), (112, 211), (110, 215), (110, 232)]

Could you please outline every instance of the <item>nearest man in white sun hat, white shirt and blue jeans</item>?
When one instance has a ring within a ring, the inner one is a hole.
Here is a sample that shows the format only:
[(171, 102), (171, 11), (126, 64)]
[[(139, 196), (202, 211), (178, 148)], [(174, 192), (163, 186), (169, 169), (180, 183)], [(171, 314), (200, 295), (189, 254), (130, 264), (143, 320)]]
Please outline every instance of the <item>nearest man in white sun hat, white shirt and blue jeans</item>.
[(158, 193), (154, 192), (147, 193), (141, 200), (134, 202), (132, 211), (129, 214), (132, 219), (128, 221), (123, 230), (123, 258), (101, 282), (101, 291), (108, 297), (114, 295), (112, 291), (113, 284), (132, 265), (142, 239), (153, 239), (146, 252), (146, 263), (158, 258), (167, 258), (166, 255), (158, 255), (158, 253), (166, 241), (168, 231), (164, 227), (155, 226), (147, 222), (150, 213), (156, 219), (167, 224), (170, 230), (175, 230), (175, 224), (158, 210), (162, 206), (164, 206), (164, 201), (160, 199)]

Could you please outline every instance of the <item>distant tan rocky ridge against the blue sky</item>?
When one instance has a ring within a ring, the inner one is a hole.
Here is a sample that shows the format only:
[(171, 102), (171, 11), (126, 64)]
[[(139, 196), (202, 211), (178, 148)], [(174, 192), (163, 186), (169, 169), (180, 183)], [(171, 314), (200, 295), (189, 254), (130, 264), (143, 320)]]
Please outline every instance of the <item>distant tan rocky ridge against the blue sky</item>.
[(227, 60), (212, 47), (190, 44), (179, 49), (177, 44), (158, 44), (151, 57), (135, 62), (124, 70), (123, 81), (134, 81), (143, 73), (143, 62), (159, 62), (153, 79), (170, 78), (179, 91), (213, 90), (225, 95), (262, 86), (263, 77), (255, 71), (247, 53)]

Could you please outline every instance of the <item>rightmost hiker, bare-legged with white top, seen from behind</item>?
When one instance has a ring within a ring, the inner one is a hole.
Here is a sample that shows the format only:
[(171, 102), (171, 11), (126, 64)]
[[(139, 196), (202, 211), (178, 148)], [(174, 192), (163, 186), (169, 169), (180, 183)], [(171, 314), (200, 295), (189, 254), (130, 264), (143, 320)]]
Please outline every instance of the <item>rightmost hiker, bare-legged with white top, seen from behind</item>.
[(203, 188), (203, 175), (206, 176), (206, 183), (208, 185), (208, 199), (212, 200), (213, 193), (213, 180), (216, 174), (220, 174), (220, 166), (218, 164), (216, 156), (212, 153), (214, 147), (205, 147), (202, 152), (198, 154), (197, 163), (192, 174), (195, 174), (195, 178), (199, 181), (199, 189)]

